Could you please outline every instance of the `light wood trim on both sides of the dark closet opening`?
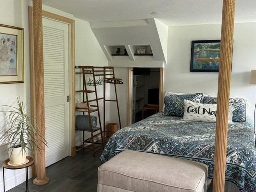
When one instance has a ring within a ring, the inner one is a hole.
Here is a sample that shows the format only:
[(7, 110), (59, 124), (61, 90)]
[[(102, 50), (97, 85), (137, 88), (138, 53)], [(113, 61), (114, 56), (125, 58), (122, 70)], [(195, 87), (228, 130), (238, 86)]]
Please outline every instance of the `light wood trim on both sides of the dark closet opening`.
[[(132, 67), (127, 67), (127, 126), (132, 124)], [(159, 111), (163, 108), (163, 96), (164, 96), (164, 68), (160, 68), (160, 80), (159, 80)]]

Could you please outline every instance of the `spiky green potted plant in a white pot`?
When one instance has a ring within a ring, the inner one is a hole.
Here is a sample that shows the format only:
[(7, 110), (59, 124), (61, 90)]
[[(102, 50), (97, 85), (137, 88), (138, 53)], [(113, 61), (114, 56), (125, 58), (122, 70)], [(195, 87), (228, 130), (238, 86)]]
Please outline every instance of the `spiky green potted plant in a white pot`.
[(1, 112), (5, 113), (4, 124), (0, 128), (0, 144), (7, 146), (11, 165), (25, 164), (27, 152), (40, 151), (38, 142), (47, 145), (46, 140), (36, 125), (28, 116), (26, 104), (17, 98), (17, 107), (4, 105)]

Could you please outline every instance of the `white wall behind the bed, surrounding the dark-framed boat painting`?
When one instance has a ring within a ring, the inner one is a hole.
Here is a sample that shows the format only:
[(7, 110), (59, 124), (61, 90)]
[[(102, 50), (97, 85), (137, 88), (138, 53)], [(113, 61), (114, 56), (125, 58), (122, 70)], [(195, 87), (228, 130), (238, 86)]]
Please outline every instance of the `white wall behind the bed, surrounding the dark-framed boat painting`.
[[(220, 39), (221, 25), (169, 27), (168, 65), (164, 68), (164, 91), (217, 94), (218, 73), (190, 72), (191, 40)], [(253, 116), (256, 86), (249, 84), (250, 70), (256, 68), (256, 23), (234, 27), (234, 49), (230, 96), (244, 97)]]

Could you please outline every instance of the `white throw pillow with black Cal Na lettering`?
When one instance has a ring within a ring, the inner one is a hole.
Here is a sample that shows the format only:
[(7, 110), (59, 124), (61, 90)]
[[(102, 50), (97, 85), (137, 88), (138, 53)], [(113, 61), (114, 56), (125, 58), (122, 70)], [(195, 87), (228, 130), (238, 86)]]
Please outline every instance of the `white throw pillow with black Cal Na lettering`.
[[(186, 121), (216, 122), (216, 104), (195, 103), (184, 100), (185, 110), (183, 119)], [(232, 123), (232, 110), (230, 106), (228, 114), (228, 123)]]

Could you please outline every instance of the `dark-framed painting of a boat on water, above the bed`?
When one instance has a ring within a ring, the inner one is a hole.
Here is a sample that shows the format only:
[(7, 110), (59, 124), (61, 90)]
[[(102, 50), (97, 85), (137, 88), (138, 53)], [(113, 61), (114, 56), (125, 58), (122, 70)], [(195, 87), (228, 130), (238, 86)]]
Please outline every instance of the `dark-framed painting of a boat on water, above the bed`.
[(191, 43), (190, 72), (218, 72), (220, 40), (199, 40)]

